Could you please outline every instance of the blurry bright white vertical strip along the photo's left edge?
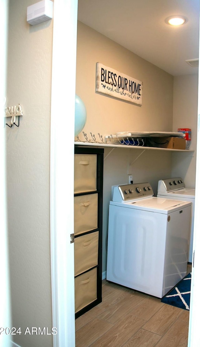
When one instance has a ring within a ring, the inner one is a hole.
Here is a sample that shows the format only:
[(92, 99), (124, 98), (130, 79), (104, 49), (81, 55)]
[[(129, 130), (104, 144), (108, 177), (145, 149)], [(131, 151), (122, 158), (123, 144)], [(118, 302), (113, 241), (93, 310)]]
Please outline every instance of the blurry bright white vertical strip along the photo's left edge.
[[(6, 81), (7, 81), (7, 23), (8, 23), (8, 1), (0, 0), (0, 13), (2, 15), (0, 24), (0, 221), (1, 221), (1, 241), (0, 241), (0, 264), (1, 264), (1, 286), (0, 286), (0, 327), (11, 327), (10, 314), (10, 280), (9, 280), (9, 260), (8, 260), (8, 231), (7, 231), (7, 206), (6, 206), (6, 141), (5, 123), (3, 118), (5, 111)], [(7, 330), (8, 332), (8, 330)], [(0, 335), (0, 346), (10, 347), (11, 336), (2, 332)]]

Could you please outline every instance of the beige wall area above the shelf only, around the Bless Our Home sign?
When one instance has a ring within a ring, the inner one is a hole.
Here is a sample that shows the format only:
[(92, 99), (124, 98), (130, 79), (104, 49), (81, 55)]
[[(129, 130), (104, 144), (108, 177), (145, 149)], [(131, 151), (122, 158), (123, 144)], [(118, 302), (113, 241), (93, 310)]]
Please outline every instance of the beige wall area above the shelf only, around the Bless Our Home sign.
[[(143, 82), (142, 106), (95, 92), (96, 62)], [(78, 22), (76, 93), (87, 109), (85, 133), (172, 131), (173, 77)], [(82, 139), (82, 134), (79, 138)]]

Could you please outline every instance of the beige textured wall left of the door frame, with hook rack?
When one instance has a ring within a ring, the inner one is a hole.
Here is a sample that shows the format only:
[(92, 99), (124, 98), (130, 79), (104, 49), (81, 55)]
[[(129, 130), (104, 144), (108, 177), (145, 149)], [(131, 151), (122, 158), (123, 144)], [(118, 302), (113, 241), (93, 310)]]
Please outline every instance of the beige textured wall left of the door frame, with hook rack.
[[(10, 0), (7, 105), (21, 104), (20, 125), (7, 136), (8, 228), (13, 335), (21, 347), (51, 347), (50, 102), (53, 21), (30, 26), (27, 6)], [(7, 119), (9, 122), (9, 119)], [(16, 120), (18, 122), (18, 119)]]

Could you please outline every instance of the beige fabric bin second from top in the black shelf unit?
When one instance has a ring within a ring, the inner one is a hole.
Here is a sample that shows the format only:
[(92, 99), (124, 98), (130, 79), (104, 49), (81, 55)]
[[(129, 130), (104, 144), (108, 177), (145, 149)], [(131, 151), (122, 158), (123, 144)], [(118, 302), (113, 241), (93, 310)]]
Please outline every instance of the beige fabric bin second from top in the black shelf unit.
[(97, 228), (98, 194), (74, 197), (74, 234)]

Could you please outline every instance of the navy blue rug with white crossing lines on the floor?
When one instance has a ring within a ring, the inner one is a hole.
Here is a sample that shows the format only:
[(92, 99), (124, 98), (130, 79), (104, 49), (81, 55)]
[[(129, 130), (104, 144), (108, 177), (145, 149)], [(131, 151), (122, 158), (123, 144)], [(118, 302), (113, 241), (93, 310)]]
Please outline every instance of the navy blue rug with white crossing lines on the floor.
[(172, 306), (190, 310), (190, 288), (191, 288), (191, 272), (185, 276), (161, 302)]

